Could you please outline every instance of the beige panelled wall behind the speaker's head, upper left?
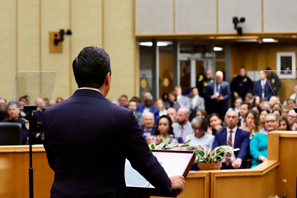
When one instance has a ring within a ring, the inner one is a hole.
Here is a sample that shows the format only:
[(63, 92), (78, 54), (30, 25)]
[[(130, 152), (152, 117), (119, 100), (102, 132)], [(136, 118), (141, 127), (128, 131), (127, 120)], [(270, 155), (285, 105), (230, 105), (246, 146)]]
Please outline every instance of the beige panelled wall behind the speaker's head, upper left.
[[(56, 71), (52, 99), (68, 98), (77, 85), (72, 61), (83, 47), (103, 47), (111, 58), (108, 99), (138, 95), (132, 0), (4, 0), (0, 7), (0, 97), (10, 101), (15, 73)], [(49, 32), (71, 28), (62, 53), (49, 53)], [(34, 100), (34, 99), (33, 99)]]

